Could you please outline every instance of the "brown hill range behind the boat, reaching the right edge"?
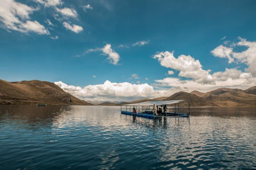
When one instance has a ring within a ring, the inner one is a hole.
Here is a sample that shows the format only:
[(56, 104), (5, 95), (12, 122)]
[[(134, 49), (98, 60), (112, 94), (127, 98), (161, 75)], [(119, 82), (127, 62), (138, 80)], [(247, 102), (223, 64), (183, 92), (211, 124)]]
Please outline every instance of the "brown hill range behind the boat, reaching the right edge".
[(188, 106), (188, 100), (191, 100), (191, 106), (256, 106), (256, 86), (246, 90), (220, 88), (206, 93), (200, 91), (177, 92), (170, 97), (158, 97), (155, 99), (140, 99), (131, 102), (122, 103), (101, 103), (100, 105), (120, 106), (144, 101), (161, 100), (185, 100), (179, 103), (179, 106)]

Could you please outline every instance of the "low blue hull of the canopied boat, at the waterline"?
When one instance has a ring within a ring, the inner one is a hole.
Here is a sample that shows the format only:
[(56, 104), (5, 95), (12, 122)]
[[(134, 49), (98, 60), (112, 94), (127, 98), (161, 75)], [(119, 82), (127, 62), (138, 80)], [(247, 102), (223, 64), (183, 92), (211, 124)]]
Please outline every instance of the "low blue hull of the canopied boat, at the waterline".
[(162, 118), (162, 117), (189, 117), (188, 114), (183, 114), (183, 113), (166, 113), (167, 116), (165, 116), (165, 115), (156, 116), (156, 115), (150, 114), (149, 112), (147, 112), (147, 113), (132, 113), (132, 112), (128, 112), (128, 111), (121, 111), (121, 114), (145, 117), (145, 118), (151, 118), (151, 119), (157, 119), (157, 118)]

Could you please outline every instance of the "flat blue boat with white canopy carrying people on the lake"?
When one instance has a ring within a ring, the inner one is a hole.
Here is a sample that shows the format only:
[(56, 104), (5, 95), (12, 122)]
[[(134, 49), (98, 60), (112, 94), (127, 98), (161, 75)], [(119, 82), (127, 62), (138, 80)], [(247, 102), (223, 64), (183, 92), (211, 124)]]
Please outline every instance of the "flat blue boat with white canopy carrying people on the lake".
[[(132, 115), (138, 117), (159, 119), (162, 117), (189, 117), (189, 110), (184, 110), (179, 108), (179, 102), (184, 100), (166, 100), (166, 101), (146, 101), (140, 103), (132, 103), (127, 105), (121, 105), (121, 114)], [(176, 103), (178, 107), (176, 107)], [(154, 104), (161, 108), (161, 111), (157, 111), (157, 114), (154, 110)], [(174, 108), (167, 108), (166, 105), (175, 104)], [(190, 106), (190, 101), (189, 101)], [(185, 113), (184, 113), (185, 111)]]

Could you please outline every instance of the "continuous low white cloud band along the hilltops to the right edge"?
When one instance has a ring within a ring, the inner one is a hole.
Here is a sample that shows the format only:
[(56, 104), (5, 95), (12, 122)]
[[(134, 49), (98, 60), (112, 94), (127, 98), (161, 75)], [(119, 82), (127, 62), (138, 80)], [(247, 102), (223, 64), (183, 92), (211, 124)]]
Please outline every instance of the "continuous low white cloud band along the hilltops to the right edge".
[[(228, 78), (225, 81), (216, 81), (216, 84), (201, 84), (193, 80), (181, 80), (180, 78), (165, 78), (163, 80), (155, 80), (156, 83), (152, 84), (157, 86), (159, 90), (155, 90), (152, 85), (148, 84), (131, 84), (131, 83), (111, 83), (106, 80), (104, 84), (87, 85), (85, 87), (72, 86), (62, 83), (61, 81), (55, 82), (61, 89), (82, 100), (98, 100), (98, 101), (132, 101), (141, 98), (171, 96), (172, 94), (185, 91), (191, 92), (198, 90), (207, 92), (215, 90), (220, 87), (230, 87), (247, 89), (255, 86), (256, 79), (248, 78), (245, 73), (240, 74), (238, 79)], [(161, 88), (165, 86), (165, 88)], [(166, 86), (170, 88), (166, 88)]]

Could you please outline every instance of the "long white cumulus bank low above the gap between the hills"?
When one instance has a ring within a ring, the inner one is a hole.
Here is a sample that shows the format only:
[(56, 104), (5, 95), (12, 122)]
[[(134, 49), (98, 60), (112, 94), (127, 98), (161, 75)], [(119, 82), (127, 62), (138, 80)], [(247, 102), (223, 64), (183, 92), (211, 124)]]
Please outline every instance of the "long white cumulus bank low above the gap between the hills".
[(117, 99), (134, 99), (135, 97), (151, 97), (160, 94), (148, 84), (111, 83), (106, 80), (104, 84), (88, 85), (85, 87), (72, 86), (55, 82), (61, 89), (72, 95), (84, 99), (116, 101)]

